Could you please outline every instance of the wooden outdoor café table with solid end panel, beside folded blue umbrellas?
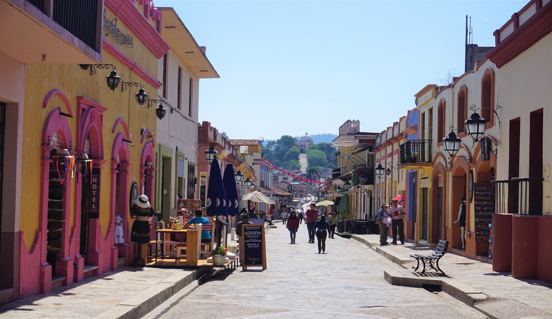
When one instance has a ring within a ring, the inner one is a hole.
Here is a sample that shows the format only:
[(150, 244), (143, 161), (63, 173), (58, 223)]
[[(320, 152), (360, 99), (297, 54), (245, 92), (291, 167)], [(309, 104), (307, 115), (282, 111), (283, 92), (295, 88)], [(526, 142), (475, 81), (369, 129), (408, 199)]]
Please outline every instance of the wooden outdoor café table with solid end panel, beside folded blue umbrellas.
[[(193, 229), (181, 229), (181, 230), (173, 230), (173, 229), (158, 229), (156, 230), (157, 233), (157, 240), (155, 242), (152, 242), (151, 244), (155, 245), (155, 253), (152, 255), (152, 257), (155, 257), (155, 261), (157, 262), (157, 258), (160, 257), (161, 259), (167, 257), (170, 259), (177, 259), (176, 256), (168, 255), (166, 253), (166, 245), (178, 245), (178, 242), (175, 241), (167, 241), (167, 237), (171, 233), (184, 233), (186, 236), (185, 244), (186, 244), (186, 265), (190, 266), (197, 266), (199, 261), (199, 246), (201, 245), (201, 230), (193, 230)], [(160, 253), (157, 253), (157, 245), (161, 245), (161, 251)], [(177, 247), (178, 249), (178, 247)], [(178, 259), (184, 259), (184, 258), (178, 258)]]

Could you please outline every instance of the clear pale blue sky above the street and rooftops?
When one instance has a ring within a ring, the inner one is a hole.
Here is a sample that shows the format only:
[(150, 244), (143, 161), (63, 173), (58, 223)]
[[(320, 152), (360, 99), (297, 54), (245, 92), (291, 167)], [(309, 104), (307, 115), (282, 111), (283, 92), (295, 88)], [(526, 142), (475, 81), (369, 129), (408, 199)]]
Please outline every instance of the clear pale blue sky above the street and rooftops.
[(415, 92), (463, 73), (466, 15), (473, 43), (493, 46), (526, 3), (155, 1), (176, 8), (220, 74), (200, 81), (199, 121), (265, 139), (337, 134), (349, 119), (385, 129), (415, 107)]

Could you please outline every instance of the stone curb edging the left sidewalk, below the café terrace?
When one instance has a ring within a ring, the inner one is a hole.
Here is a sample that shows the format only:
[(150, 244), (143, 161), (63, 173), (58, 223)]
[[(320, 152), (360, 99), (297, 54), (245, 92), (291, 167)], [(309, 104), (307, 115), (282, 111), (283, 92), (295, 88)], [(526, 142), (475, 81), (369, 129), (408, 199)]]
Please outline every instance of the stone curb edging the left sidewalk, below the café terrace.
[(179, 272), (167, 277), (162, 282), (141, 291), (132, 298), (100, 313), (94, 319), (136, 319), (144, 317), (148, 312), (171, 298), (179, 290), (194, 282), (205, 273), (204, 268), (193, 272)]

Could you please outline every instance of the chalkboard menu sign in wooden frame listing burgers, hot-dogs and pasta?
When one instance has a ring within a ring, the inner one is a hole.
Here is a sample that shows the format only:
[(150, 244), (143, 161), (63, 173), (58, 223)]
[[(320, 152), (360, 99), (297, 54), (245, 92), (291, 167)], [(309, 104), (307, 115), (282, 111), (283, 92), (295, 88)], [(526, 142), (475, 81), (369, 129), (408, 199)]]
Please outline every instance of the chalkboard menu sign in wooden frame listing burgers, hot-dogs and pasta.
[(263, 267), (267, 269), (266, 245), (264, 242), (264, 224), (263, 225), (242, 225), (243, 252), (240, 254), (243, 258), (242, 267)]

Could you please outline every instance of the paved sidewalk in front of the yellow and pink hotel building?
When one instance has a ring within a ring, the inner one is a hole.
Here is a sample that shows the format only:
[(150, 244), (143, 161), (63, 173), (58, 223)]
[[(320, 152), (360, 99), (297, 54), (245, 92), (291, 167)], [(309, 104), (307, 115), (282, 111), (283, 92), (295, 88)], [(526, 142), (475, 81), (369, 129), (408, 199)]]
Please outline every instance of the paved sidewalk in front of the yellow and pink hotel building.
[(198, 275), (190, 269), (125, 267), (0, 306), (0, 318), (140, 318)]

